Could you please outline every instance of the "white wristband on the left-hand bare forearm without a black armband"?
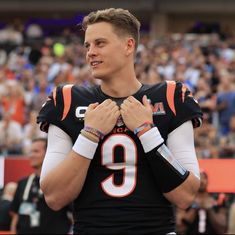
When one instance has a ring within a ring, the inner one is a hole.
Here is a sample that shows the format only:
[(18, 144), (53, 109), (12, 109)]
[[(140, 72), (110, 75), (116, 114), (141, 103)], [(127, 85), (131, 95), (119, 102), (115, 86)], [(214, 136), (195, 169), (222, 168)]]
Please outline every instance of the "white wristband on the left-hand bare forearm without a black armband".
[(85, 158), (93, 159), (97, 147), (98, 143), (80, 134), (73, 145), (73, 151)]

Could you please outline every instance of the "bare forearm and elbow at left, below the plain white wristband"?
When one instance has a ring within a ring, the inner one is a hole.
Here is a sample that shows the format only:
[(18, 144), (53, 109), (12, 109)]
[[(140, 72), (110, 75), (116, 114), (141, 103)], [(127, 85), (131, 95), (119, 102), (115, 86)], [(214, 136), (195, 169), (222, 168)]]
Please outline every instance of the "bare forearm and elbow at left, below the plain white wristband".
[(90, 162), (90, 159), (72, 150), (64, 161), (41, 180), (41, 189), (47, 204), (52, 209), (61, 209), (79, 195)]

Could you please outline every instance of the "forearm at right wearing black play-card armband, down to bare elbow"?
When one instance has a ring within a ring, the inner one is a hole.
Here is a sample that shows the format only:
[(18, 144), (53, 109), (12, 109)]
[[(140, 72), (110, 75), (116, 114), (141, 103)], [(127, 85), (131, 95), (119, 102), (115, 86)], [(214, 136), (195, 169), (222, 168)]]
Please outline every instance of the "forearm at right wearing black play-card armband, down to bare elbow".
[(164, 196), (179, 208), (188, 208), (199, 189), (199, 178), (183, 167), (165, 145), (154, 148), (146, 155)]

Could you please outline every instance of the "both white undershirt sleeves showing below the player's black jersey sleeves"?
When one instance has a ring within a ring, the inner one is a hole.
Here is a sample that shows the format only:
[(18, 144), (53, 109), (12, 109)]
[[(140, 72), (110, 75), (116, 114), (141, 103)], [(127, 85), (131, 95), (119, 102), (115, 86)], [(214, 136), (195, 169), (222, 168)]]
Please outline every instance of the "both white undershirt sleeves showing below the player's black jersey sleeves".
[[(188, 171), (199, 178), (199, 165), (194, 148), (194, 133), (191, 121), (183, 123), (168, 135), (166, 145), (173, 156)], [(55, 125), (50, 125), (48, 130), (48, 147), (44, 158), (41, 177), (43, 177), (71, 151), (72, 140), (67, 133)]]

